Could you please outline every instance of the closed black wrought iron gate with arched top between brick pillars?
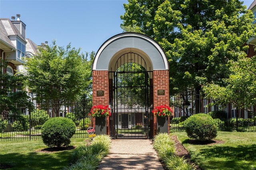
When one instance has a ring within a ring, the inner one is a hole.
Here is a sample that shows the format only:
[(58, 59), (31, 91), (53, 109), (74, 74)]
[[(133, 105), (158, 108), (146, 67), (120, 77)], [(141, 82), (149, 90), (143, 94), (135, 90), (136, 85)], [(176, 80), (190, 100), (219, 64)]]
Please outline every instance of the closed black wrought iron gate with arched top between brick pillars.
[(122, 55), (115, 71), (110, 72), (113, 113), (110, 133), (114, 138), (149, 137), (151, 74), (144, 59), (136, 53)]

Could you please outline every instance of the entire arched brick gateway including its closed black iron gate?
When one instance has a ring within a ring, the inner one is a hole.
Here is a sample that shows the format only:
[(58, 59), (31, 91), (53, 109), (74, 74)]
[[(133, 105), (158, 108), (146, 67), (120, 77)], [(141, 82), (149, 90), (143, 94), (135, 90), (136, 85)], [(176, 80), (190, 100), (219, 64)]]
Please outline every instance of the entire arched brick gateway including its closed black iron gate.
[(112, 112), (102, 132), (113, 138), (155, 136), (160, 127), (150, 113), (169, 104), (168, 70), (163, 49), (144, 34), (126, 32), (106, 40), (92, 66), (92, 104), (109, 105)]

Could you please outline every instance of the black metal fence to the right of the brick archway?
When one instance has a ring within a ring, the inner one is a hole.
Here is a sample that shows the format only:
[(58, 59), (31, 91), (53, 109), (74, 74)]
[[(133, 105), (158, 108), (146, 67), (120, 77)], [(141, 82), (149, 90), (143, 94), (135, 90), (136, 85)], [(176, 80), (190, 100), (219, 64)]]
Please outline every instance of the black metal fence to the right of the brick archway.
[(184, 121), (191, 115), (206, 113), (218, 123), (219, 130), (256, 132), (256, 107), (237, 109), (228, 103), (226, 105), (209, 105), (212, 99), (195, 91), (187, 91), (170, 98), (174, 114), (170, 117), (170, 131), (183, 131)]

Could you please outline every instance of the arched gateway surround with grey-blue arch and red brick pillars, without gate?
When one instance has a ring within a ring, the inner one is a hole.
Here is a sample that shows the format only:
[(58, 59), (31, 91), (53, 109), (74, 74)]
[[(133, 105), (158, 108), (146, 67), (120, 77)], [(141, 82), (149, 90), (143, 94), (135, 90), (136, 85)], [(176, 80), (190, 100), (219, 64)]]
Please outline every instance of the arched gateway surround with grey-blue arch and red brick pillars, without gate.
[[(118, 34), (102, 44), (94, 58), (92, 70), (92, 97), (93, 105), (112, 105), (113, 100), (113, 71), (118, 58), (126, 53), (140, 55), (147, 65), (146, 71), (150, 71), (150, 132), (148, 136), (155, 136), (157, 132), (156, 117), (152, 115), (152, 108), (158, 105), (169, 105), (169, 71), (166, 55), (160, 45), (143, 34), (127, 32)], [(129, 58), (127, 58), (128, 60)], [(136, 59), (135, 59), (136, 60)], [(139, 62), (139, 61), (137, 61)], [(126, 63), (120, 61), (120, 65)], [(99, 94), (99, 91), (103, 95)], [(113, 108), (112, 108), (112, 111)], [(117, 126), (114, 125), (115, 115), (107, 118), (107, 134), (116, 137)], [(169, 120), (169, 119), (168, 119)], [(169, 123), (168, 123), (169, 124)], [(95, 125), (95, 120), (93, 121)], [(168, 126), (168, 132), (169, 132)]]

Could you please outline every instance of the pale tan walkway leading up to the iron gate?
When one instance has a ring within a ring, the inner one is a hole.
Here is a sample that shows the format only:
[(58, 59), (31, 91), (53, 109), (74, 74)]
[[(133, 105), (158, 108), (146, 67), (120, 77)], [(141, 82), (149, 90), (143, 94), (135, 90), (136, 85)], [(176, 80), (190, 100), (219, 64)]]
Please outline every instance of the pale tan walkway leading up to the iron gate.
[(98, 170), (164, 170), (152, 141), (146, 139), (112, 140), (110, 153)]

